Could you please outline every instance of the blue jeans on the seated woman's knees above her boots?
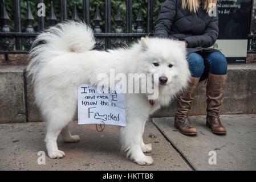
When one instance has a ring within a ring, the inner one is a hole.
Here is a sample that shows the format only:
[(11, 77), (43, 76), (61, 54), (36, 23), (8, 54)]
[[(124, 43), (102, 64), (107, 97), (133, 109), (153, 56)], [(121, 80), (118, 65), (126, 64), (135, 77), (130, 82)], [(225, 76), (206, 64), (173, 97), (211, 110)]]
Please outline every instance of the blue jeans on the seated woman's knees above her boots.
[(201, 77), (206, 71), (214, 75), (227, 74), (227, 59), (221, 52), (190, 53), (188, 63), (192, 77)]

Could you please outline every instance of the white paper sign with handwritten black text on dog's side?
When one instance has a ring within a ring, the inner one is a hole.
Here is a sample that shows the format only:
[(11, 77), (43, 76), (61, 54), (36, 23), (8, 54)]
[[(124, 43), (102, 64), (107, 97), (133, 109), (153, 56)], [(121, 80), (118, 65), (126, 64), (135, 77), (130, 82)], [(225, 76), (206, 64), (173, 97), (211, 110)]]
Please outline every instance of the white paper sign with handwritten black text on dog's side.
[[(117, 89), (117, 88), (116, 88)], [(117, 90), (78, 86), (78, 124), (125, 126), (125, 95)]]

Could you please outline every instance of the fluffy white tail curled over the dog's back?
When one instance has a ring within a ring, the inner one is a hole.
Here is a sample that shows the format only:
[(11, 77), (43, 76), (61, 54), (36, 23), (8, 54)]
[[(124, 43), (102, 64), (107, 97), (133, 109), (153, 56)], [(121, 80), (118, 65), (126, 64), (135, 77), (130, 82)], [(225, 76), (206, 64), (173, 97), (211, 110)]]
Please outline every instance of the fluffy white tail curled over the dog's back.
[(42, 65), (56, 56), (90, 51), (94, 46), (93, 32), (86, 24), (74, 21), (59, 23), (43, 31), (35, 39), (29, 54), (27, 71), (29, 75), (35, 75)]

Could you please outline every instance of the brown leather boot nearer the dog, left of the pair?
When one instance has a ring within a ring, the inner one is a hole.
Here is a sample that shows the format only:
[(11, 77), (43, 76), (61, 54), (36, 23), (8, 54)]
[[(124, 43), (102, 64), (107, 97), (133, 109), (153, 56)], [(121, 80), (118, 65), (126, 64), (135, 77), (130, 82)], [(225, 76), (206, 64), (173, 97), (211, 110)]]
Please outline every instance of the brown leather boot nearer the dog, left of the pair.
[(189, 121), (189, 111), (199, 80), (200, 78), (192, 77), (188, 88), (177, 97), (178, 110), (175, 115), (174, 127), (184, 135), (197, 135), (196, 128)]

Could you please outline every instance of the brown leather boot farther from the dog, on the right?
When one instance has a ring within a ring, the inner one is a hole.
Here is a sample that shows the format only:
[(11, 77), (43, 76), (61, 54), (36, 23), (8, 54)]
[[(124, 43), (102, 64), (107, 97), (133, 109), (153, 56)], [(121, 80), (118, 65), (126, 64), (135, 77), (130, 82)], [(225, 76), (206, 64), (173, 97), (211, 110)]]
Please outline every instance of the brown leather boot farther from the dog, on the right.
[(220, 106), (226, 84), (227, 75), (213, 75), (209, 73), (207, 95), (206, 126), (210, 127), (214, 134), (226, 134), (226, 129), (220, 121)]

